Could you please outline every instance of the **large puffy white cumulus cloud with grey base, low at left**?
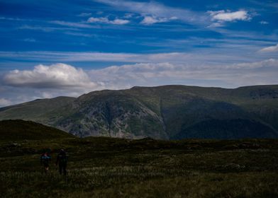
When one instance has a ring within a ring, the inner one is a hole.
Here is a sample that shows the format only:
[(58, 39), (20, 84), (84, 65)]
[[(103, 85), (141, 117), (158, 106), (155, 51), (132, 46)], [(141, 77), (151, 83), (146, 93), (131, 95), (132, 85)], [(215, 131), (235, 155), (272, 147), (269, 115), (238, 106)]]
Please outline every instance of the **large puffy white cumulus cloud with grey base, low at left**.
[(95, 88), (89, 76), (82, 70), (67, 64), (40, 64), (33, 70), (13, 70), (4, 76), (9, 86), (32, 88)]

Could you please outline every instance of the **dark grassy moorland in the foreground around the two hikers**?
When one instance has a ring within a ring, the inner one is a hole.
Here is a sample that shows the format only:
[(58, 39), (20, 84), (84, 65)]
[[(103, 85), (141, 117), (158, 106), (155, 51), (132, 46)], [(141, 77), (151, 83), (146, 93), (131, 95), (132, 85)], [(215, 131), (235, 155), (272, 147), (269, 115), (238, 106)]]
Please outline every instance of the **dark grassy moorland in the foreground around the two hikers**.
[[(60, 148), (69, 153), (67, 177), (55, 169)], [(9, 137), (0, 141), (0, 167), (0, 197), (278, 197), (274, 139)]]

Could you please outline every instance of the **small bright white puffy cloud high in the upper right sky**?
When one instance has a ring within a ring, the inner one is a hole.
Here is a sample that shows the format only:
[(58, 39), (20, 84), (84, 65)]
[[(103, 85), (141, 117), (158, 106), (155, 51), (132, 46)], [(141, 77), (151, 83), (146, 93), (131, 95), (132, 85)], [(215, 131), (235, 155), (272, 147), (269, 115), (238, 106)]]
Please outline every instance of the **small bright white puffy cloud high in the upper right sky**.
[(213, 21), (249, 21), (251, 19), (248, 11), (208, 11)]

